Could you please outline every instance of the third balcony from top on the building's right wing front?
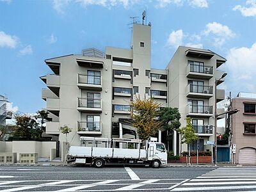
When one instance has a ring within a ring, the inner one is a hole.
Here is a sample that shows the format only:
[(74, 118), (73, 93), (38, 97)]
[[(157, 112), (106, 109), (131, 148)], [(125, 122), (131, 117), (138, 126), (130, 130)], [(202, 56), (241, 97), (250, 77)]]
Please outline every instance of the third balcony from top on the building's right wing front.
[(186, 108), (187, 116), (205, 116), (210, 117), (213, 115), (212, 106), (199, 106), (188, 104)]

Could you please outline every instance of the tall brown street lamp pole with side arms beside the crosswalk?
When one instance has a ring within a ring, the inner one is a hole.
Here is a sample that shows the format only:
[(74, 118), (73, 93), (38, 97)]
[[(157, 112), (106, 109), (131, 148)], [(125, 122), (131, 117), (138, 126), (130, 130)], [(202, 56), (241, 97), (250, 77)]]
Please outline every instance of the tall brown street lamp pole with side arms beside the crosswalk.
[[(217, 84), (220, 82), (221, 79), (223, 79), (225, 76), (227, 76), (227, 73), (222, 74), (222, 76), (220, 77), (220, 79), (216, 79), (214, 81), (214, 143), (215, 143), (215, 147), (214, 147), (214, 164), (217, 164), (217, 117), (223, 114), (219, 114), (217, 115)], [(227, 111), (228, 112), (228, 111)], [(227, 113), (226, 112), (226, 113)]]

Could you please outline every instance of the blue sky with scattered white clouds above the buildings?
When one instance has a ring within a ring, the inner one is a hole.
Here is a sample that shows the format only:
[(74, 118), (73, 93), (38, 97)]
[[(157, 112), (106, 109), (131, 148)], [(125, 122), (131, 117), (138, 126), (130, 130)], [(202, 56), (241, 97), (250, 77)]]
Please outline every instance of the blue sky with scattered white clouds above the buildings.
[(130, 17), (147, 10), (152, 67), (165, 68), (178, 45), (227, 58), (226, 93), (256, 92), (256, 0), (0, 0), (0, 94), (13, 111), (45, 107), (44, 60), (82, 49), (129, 48)]

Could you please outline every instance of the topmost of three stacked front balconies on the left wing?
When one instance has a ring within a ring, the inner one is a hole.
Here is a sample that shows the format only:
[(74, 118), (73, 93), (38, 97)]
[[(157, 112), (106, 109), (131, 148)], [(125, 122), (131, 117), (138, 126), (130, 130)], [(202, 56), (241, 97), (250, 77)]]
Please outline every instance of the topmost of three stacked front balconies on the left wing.
[(102, 90), (102, 77), (88, 74), (78, 74), (77, 86), (86, 90)]

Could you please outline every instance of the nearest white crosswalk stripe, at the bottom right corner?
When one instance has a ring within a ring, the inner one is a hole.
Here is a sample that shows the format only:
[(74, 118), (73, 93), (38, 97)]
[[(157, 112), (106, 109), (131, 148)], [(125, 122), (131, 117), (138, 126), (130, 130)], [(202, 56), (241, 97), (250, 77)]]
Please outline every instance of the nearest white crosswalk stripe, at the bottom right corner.
[(227, 190), (227, 189), (255, 189), (256, 186), (218, 186), (218, 187), (199, 187), (199, 188), (175, 188), (171, 191), (209, 191), (209, 190)]

